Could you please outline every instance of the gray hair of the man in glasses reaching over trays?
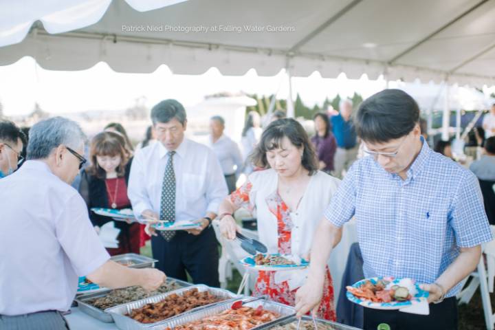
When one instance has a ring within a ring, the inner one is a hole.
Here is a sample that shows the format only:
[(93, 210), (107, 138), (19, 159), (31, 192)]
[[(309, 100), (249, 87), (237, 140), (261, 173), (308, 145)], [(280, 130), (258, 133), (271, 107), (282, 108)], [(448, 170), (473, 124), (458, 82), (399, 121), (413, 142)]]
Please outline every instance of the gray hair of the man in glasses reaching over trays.
[(30, 129), (27, 159), (47, 158), (61, 144), (77, 150), (85, 140), (85, 133), (73, 120), (63, 117), (42, 120)]

